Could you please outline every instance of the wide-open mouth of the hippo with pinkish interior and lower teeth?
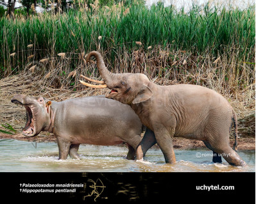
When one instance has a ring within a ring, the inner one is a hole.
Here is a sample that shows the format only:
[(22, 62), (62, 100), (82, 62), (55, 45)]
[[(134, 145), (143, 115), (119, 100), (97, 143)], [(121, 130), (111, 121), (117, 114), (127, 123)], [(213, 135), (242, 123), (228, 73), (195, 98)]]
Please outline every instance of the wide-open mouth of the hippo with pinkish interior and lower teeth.
[(27, 119), (26, 119), (26, 125), (25, 127), (22, 129), (22, 134), (24, 136), (35, 136), (35, 120), (33, 118), (33, 111), (31, 109), (30, 106), (28, 105), (25, 105), (25, 104), (22, 104), (22, 102), (20, 102), (19, 100), (12, 100), (12, 102), (14, 104), (19, 104), (19, 105), (22, 105), (26, 108), (26, 116), (27, 116)]

